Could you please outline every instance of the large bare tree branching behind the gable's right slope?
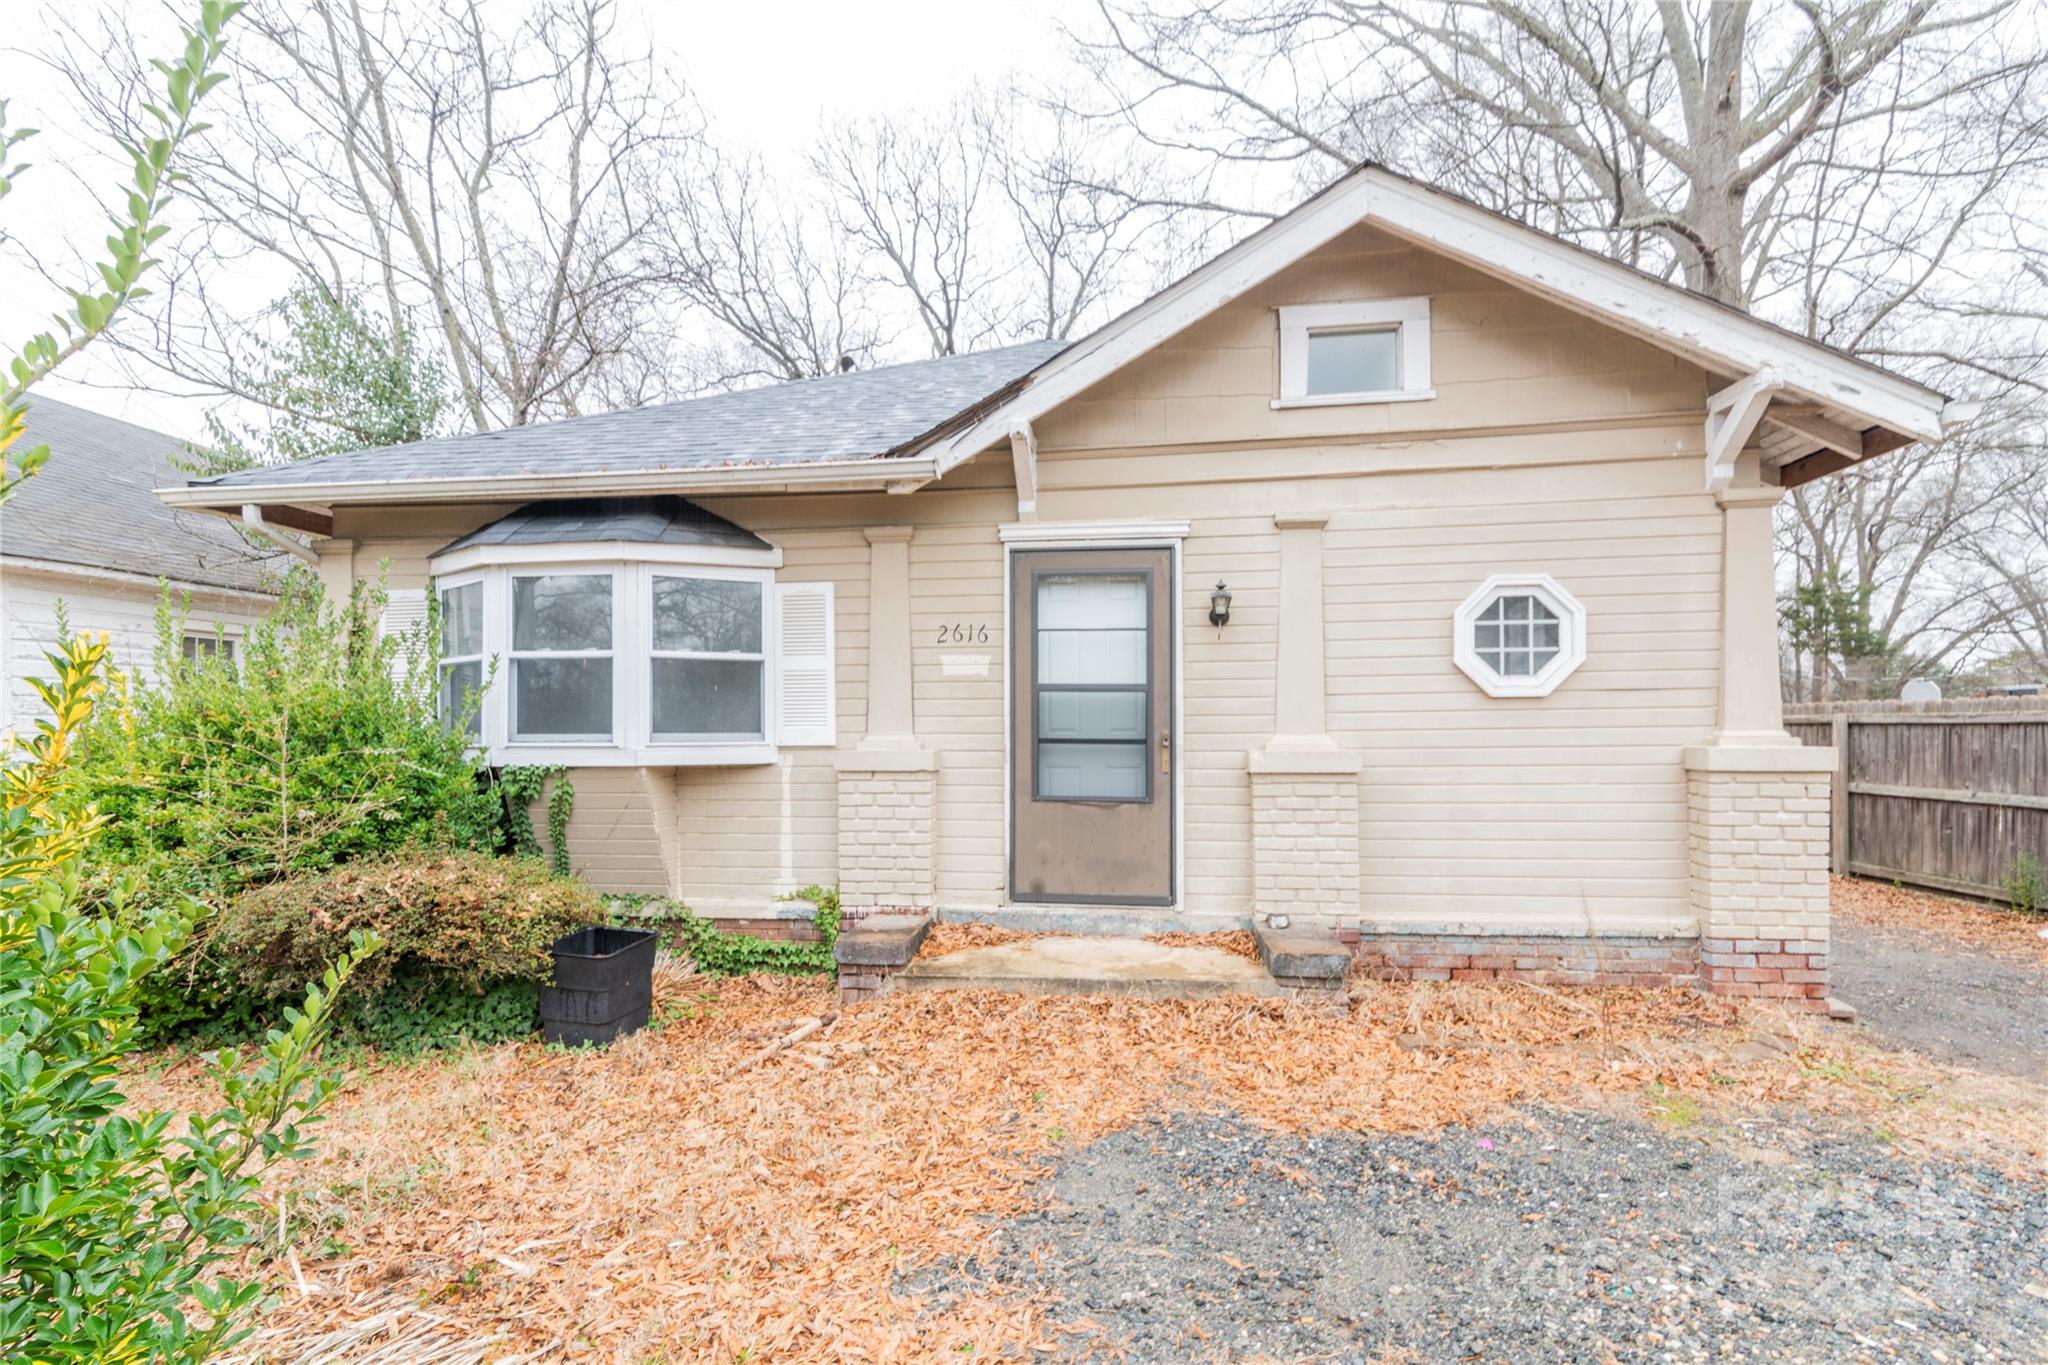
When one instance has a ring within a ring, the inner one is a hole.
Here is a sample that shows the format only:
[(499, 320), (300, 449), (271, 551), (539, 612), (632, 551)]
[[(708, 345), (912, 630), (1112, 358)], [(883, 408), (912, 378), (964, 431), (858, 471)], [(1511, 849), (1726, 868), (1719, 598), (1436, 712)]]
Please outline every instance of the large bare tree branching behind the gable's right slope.
[(1798, 581), (1868, 591), (1894, 655), (1999, 647), (1976, 546), (2019, 534), (2048, 377), (2048, 274), (2025, 270), (2044, 51), (2019, 6), (1100, 4), (1081, 57), (1108, 98), (1087, 113), (1188, 168), (1176, 203), (1264, 205), (1274, 174), (1298, 192), (1386, 160), (1989, 399), (1985, 436), (1804, 485), (1782, 530)]

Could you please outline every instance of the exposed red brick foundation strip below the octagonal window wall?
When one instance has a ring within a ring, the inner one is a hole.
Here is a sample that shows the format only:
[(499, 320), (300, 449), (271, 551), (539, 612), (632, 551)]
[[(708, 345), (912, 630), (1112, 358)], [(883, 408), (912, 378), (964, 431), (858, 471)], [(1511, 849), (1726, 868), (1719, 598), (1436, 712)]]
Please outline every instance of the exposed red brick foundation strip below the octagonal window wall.
[(1540, 986), (1700, 984), (1698, 939), (1444, 935), (1337, 929), (1378, 980), (1526, 980)]

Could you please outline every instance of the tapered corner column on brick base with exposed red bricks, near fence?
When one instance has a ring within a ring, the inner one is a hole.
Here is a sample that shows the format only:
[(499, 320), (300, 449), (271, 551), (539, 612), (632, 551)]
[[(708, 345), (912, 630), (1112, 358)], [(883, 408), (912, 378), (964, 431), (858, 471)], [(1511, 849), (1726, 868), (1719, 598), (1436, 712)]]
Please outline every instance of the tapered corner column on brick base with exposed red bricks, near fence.
[(1716, 995), (1827, 1009), (1827, 862), (1833, 749), (1786, 735), (1778, 692), (1772, 508), (1755, 452), (1722, 491), (1720, 716), (1686, 749), (1700, 984)]

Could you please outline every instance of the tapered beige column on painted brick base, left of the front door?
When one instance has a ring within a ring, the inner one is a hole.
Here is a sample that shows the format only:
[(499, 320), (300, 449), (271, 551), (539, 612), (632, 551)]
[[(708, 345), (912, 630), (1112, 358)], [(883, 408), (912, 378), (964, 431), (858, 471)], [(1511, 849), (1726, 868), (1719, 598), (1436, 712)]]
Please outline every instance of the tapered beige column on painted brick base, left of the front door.
[(834, 755), (840, 909), (930, 911), (938, 894), (938, 755), (918, 743), (909, 634), (909, 526), (870, 526), (866, 737)]

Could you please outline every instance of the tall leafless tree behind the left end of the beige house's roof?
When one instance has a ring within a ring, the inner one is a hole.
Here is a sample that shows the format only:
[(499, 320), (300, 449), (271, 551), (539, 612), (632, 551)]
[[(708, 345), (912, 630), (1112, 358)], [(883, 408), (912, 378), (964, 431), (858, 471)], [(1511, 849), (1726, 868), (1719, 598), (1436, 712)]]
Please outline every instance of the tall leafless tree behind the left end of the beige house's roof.
[[(481, 0), (258, 0), (242, 23), (240, 106), (190, 168), (209, 215), (184, 260), (283, 262), (391, 317), (418, 305), (477, 430), (573, 413), (659, 358), (645, 246), (694, 125), (621, 51), (612, 0), (541, 0), (510, 29)], [(68, 57), (102, 111), (109, 65), (127, 65), (117, 45)], [(217, 282), (195, 266), (166, 293), (158, 360), (240, 393), (219, 356), (244, 319)]]

